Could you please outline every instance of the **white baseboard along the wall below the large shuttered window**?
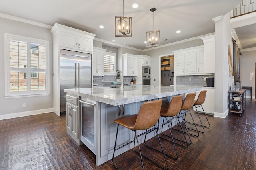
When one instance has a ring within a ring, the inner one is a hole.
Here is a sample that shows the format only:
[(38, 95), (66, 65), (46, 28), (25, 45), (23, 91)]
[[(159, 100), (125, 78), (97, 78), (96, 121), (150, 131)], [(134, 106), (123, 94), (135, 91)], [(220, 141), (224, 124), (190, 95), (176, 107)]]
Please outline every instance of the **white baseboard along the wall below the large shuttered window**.
[(31, 115), (39, 115), (42, 113), (49, 113), (53, 112), (54, 109), (42, 109), (42, 110), (33, 110), (33, 111), (25, 111), (25, 112), (20, 112), (20, 113), (10, 113), (10, 114), (5, 114), (5, 115), (0, 115), (0, 120), (4, 119), (12, 119), (16, 117), (24, 117), (24, 116), (31, 116)]

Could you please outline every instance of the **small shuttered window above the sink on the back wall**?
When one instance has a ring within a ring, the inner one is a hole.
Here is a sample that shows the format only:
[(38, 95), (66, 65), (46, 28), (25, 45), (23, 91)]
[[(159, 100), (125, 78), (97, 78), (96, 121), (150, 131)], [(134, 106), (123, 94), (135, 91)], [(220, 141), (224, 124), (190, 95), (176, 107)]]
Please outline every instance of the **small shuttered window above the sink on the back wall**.
[(116, 73), (116, 53), (104, 54), (104, 74), (114, 75)]

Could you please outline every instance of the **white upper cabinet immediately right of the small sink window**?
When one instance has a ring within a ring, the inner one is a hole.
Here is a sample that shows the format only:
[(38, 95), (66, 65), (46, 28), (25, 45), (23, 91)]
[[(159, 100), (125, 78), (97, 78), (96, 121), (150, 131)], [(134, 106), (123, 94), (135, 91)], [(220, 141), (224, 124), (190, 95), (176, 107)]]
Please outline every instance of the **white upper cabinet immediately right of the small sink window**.
[(138, 57), (132, 54), (123, 54), (124, 76), (138, 76)]

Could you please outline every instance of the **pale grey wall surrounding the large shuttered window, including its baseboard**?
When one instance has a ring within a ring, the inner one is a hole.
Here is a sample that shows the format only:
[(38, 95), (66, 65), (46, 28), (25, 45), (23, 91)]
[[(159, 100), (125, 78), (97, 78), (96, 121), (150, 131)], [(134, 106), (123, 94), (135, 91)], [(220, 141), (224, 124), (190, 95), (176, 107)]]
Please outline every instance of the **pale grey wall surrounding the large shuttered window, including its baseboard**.
[[(8, 98), (5, 95), (4, 82), (4, 33), (32, 37), (49, 41), (50, 45), (50, 95), (26, 98)], [(8, 119), (12, 117), (22, 117), (39, 113), (47, 113), (52, 111), (52, 34), (50, 29), (0, 18), (0, 119)], [(26, 107), (22, 104), (26, 103)]]

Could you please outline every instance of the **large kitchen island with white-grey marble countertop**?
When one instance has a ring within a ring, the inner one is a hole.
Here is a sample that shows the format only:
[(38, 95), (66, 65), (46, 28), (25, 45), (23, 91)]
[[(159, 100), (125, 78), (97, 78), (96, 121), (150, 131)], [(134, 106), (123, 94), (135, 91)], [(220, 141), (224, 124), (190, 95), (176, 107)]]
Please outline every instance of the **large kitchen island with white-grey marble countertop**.
[[(163, 99), (163, 105), (172, 96), (200, 91), (197, 86), (126, 86), (124, 88), (93, 87), (65, 89), (67, 92), (67, 132), (81, 145), (84, 143), (95, 155), (96, 165), (112, 158), (116, 123), (122, 116), (138, 113), (143, 102)], [(80, 101), (80, 102), (78, 102)], [(167, 129), (167, 126), (164, 127)], [(118, 145), (132, 141), (134, 134), (121, 127)], [(141, 132), (142, 133), (142, 132)], [(147, 139), (154, 137), (153, 133)], [(82, 142), (81, 142), (82, 141)], [(142, 138), (139, 139), (142, 143)], [(116, 152), (116, 156), (131, 149), (126, 145)]]

